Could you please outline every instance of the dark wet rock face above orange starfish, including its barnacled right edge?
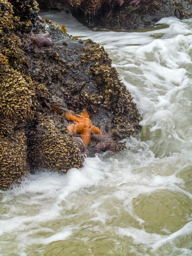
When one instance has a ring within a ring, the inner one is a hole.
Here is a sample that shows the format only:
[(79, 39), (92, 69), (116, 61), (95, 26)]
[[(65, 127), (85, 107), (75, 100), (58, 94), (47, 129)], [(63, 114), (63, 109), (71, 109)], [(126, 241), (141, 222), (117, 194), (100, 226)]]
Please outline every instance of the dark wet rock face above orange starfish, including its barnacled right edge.
[(54, 106), (51, 110), (58, 114), (57, 108), (75, 113), (86, 108), (93, 125), (110, 126), (114, 139), (134, 135), (140, 129), (140, 114), (104, 48), (91, 40), (74, 40), (49, 21), (46, 26), (53, 46), (42, 51), (32, 45), (23, 50), (30, 56), (33, 81), (48, 89), (48, 108)]

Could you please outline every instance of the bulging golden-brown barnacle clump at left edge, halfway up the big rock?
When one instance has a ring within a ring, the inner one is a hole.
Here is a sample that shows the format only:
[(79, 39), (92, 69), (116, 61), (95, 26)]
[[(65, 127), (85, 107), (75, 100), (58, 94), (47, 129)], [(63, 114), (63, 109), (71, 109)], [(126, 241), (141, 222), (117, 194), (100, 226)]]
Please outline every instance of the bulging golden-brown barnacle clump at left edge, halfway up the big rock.
[(32, 121), (38, 98), (46, 95), (42, 84), (32, 82), (10, 65), (8, 57), (0, 54), (0, 134), (10, 134)]

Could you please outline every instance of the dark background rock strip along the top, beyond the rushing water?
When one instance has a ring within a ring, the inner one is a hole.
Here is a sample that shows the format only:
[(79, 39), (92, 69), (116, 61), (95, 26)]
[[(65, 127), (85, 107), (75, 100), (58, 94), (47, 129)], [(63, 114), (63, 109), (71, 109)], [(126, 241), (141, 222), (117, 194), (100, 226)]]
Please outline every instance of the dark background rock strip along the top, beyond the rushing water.
[[(38, 0), (41, 10), (57, 8), (70, 11), (87, 26), (133, 30), (147, 28), (164, 17), (192, 17), (192, 1), (185, 0)], [(93, 15), (94, 14), (94, 15)], [(91, 20), (87, 20), (91, 15)]]

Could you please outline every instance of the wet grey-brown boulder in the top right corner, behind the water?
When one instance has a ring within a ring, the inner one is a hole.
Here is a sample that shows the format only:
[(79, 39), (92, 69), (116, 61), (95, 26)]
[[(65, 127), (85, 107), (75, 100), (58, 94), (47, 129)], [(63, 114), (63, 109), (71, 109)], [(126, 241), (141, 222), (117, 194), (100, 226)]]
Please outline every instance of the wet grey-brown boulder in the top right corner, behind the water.
[(112, 12), (109, 18), (104, 17), (103, 23), (108, 28), (138, 29), (153, 26), (164, 17), (188, 19), (192, 17), (192, 4), (188, 1), (178, 0), (141, 0), (127, 2), (120, 9)]

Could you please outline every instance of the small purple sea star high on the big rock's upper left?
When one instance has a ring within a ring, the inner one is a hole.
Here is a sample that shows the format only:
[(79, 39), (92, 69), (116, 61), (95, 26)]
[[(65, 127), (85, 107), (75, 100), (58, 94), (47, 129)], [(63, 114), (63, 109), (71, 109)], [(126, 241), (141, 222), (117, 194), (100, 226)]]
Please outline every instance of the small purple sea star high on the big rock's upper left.
[(35, 35), (33, 32), (30, 32), (29, 39), (34, 39), (39, 49), (41, 49), (43, 46), (53, 45), (53, 41), (49, 38), (49, 33)]

